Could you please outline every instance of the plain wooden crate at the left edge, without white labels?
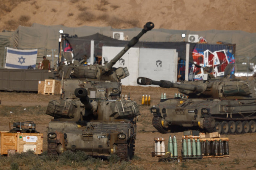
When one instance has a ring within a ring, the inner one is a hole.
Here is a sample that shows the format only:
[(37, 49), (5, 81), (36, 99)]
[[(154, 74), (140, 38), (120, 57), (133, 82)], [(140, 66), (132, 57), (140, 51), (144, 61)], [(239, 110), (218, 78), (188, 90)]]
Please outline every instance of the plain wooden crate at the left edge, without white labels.
[(0, 132), (0, 154), (7, 155), (8, 149), (17, 150), (17, 133)]

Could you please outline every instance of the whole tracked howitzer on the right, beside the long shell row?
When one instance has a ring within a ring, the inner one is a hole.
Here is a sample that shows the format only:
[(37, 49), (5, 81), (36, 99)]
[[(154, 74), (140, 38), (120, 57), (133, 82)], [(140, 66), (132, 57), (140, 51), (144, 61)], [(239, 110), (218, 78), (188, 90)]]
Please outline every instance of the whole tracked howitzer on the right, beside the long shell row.
[(172, 83), (139, 77), (137, 83), (178, 88), (183, 94), (161, 99), (157, 106), (151, 107), (153, 126), (160, 133), (184, 127), (199, 127), (222, 134), (256, 131), (256, 80), (211, 78)]

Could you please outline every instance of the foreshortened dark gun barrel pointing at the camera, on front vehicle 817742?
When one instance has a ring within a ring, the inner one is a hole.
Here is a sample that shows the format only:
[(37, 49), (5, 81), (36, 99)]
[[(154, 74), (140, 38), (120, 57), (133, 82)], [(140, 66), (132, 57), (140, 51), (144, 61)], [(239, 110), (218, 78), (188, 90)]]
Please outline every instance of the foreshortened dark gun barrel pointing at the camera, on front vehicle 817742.
[(90, 98), (88, 97), (87, 90), (85, 88), (76, 88), (75, 95), (80, 99), (81, 103), (84, 104), (84, 107), (86, 109), (85, 116), (92, 114), (93, 107), (90, 102)]

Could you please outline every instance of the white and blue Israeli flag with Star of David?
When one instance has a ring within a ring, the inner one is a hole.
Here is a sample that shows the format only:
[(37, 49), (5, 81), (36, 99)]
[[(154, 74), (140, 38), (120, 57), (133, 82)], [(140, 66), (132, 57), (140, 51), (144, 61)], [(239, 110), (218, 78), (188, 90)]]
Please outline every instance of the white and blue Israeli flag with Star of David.
[(29, 66), (36, 68), (37, 49), (17, 50), (7, 47), (5, 68), (28, 69)]

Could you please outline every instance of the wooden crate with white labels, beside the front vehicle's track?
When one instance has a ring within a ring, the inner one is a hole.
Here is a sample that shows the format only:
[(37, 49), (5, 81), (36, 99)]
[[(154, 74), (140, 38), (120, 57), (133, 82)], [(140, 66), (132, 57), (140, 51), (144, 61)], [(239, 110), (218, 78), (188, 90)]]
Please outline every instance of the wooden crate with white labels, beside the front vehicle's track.
[(43, 152), (43, 134), (42, 133), (17, 133), (17, 152), (26, 152), (32, 150), (40, 155)]

